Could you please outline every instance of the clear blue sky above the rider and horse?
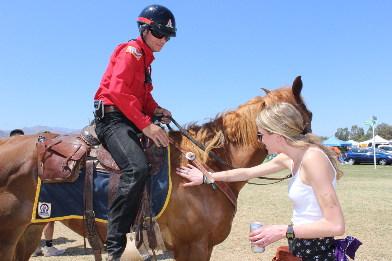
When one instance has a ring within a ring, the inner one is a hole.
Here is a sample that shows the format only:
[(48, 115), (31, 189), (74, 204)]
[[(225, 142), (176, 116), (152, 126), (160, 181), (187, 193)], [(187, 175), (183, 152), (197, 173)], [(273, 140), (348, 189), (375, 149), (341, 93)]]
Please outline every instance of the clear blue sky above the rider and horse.
[(1, 7), (0, 130), (87, 125), (109, 56), (138, 36), (149, 4), (176, 18), (177, 37), (155, 53), (152, 95), (180, 124), (301, 75), (315, 134), (371, 116), (392, 125), (390, 1), (13, 0)]

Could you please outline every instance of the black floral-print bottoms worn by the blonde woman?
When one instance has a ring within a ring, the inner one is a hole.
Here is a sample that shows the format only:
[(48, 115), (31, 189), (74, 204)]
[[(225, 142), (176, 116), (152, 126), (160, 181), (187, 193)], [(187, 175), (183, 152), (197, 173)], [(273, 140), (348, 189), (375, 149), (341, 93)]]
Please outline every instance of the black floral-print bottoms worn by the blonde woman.
[(334, 238), (288, 239), (289, 250), (302, 261), (335, 261)]

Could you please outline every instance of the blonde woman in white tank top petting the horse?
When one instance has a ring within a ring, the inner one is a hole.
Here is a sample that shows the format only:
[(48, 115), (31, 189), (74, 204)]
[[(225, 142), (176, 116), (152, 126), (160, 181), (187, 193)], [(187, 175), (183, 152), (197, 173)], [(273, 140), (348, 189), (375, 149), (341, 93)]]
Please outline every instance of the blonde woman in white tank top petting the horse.
[[(288, 103), (276, 103), (256, 118), (258, 139), (269, 154), (281, 151), (273, 160), (248, 169), (212, 173), (218, 181), (235, 182), (290, 169), (289, 198), (294, 203), (292, 223), (270, 225), (249, 234), (260, 247), (288, 238), (289, 250), (303, 261), (335, 260), (334, 236), (345, 232), (343, 212), (335, 193), (336, 181), (343, 175), (334, 151), (323, 146), (316, 135), (307, 133), (303, 118)], [(192, 165), (177, 168), (177, 174), (191, 182), (184, 187), (206, 182)]]

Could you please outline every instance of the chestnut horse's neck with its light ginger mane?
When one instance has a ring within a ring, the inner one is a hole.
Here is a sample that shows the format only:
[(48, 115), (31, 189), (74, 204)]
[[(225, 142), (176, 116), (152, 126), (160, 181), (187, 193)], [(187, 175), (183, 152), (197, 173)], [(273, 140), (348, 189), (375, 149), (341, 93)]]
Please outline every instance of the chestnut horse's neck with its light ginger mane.
[[(242, 104), (237, 110), (222, 113), (214, 121), (207, 122), (203, 126), (190, 125), (188, 132), (196, 137), (196, 140), (203, 140), (211, 133), (216, 137), (224, 137), (224, 141), (218, 139), (215, 144), (221, 146), (214, 147), (211, 152), (220, 157), (235, 168), (248, 168), (261, 164), (267, 156), (267, 150), (264, 144), (258, 142), (256, 133), (257, 126), (255, 122), (256, 114), (265, 106), (263, 98), (255, 97), (248, 103)], [(224, 115), (223, 115), (224, 114)], [(220, 135), (223, 133), (223, 135)], [(174, 140), (177, 140), (181, 147), (187, 151), (194, 151), (196, 158), (202, 159), (201, 149), (187, 140), (180, 132), (171, 134)], [(223, 144), (223, 145), (222, 145)], [(213, 160), (211, 157), (205, 158), (205, 164), (214, 172), (227, 171), (228, 167)], [(203, 161), (203, 160), (202, 160)], [(246, 182), (229, 182), (229, 187), (234, 194), (238, 196), (241, 188)]]

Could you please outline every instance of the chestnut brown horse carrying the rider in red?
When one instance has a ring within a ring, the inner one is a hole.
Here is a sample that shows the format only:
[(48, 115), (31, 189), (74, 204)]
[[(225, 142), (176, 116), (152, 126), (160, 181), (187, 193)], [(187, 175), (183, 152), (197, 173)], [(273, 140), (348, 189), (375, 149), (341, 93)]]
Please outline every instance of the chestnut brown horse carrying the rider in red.
[[(301, 99), (300, 76), (292, 88), (284, 86), (274, 91), (265, 90), (264, 97), (255, 97), (236, 110), (217, 115), (216, 119), (202, 126), (188, 126), (189, 133), (200, 141), (207, 151), (236, 168), (261, 164), (267, 156), (262, 143), (257, 141), (256, 115), (263, 108), (286, 101), (298, 108), (309, 131), (311, 112)], [(264, 89), (263, 89), (264, 90)], [(180, 132), (169, 135), (187, 151), (205, 162), (214, 171), (227, 167), (207, 157)], [(55, 137), (56, 134), (47, 134)], [(7, 139), (0, 146), (0, 260), (26, 261), (40, 243), (46, 223), (31, 223), (34, 196), (37, 186), (36, 142), (38, 135), (25, 135), (19, 139)], [(230, 233), (234, 205), (219, 189), (203, 184), (183, 187), (187, 182), (175, 174), (176, 167), (189, 163), (178, 149), (171, 148), (172, 193), (163, 214), (157, 219), (167, 250), (173, 251), (178, 261), (208, 261), (212, 248), (223, 242)], [(229, 182), (238, 196), (245, 182)], [(83, 235), (82, 220), (62, 220), (67, 227)], [(103, 241), (106, 224), (97, 223)], [(246, 233), (246, 232), (244, 232)]]

